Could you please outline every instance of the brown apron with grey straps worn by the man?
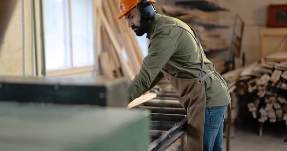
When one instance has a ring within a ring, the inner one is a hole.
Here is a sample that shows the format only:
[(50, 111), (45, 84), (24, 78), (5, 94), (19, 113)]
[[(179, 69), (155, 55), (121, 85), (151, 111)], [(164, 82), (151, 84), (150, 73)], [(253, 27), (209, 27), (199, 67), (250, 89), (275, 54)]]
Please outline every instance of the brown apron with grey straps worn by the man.
[[(186, 30), (185, 28), (175, 25), (166, 24), (160, 27), (175, 26)], [(190, 27), (191, 28), (191, 27)], [(193, 30), (191, 28), (191, 30)], [(186, 30), (188, 31), (188, 30)], [(188, 31), (192, 36), (193, 34)], [(168, 79), (171, 86), (177, 91), (179, 95), (179, 102), (187, 112), (187, 149), (188, 151), (202, 151), (203, 150), (203, 130), (204, 130), (204, 117), (205, 117), (205, 87), (204, 80), (215, 72), (215, 66), (213, 65), (213, 71), (202, 75), (204, 69), (203, 62), (203, 50), (200, 46), (199, 39), (196, 32), (193, 30), (195, 37), (193, 38), (197, 42), (197, 46), (200, 49), (201, 56), (201, 71), (198, 78), (182, 79), (172, 76), (161, 70), (163, 75)]]

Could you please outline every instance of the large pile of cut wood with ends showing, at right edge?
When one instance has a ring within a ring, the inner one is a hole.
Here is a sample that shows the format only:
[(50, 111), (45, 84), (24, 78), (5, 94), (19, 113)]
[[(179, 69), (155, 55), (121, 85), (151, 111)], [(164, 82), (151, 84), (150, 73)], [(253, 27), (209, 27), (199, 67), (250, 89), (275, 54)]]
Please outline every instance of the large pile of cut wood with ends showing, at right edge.
[(287, 62), (254, 62), (241, 73), (241, 94), (253, 99), (248, 109), (259, 122), (286, 121), (287, 125)]

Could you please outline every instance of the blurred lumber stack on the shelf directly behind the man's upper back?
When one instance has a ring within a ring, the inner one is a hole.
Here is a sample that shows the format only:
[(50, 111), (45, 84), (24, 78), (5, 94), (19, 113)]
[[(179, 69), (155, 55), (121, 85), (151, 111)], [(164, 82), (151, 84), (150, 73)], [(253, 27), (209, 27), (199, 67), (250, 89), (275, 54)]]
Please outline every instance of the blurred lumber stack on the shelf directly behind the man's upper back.
[(227, 49), (225, 39), (220, 38), (218, 33), (198, 25), (192, 25), (192, 28), (197, 32), (201, 46), (205, 52)]

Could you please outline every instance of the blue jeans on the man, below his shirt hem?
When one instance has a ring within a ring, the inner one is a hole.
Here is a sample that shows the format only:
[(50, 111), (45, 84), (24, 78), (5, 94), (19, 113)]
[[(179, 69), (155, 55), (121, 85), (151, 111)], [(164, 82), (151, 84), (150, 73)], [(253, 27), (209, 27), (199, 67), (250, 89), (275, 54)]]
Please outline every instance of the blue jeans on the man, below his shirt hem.
[(205, 108), (203, 151), (222, 151), (223, 121), (227, 106)]

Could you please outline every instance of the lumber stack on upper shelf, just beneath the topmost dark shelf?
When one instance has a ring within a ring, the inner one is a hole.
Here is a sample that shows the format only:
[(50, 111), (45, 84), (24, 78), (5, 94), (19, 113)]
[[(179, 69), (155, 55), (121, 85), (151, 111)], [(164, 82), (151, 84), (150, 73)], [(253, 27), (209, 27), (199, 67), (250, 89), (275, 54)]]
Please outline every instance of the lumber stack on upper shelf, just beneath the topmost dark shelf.
[(215, 13), (206, 13), (197, 9), (184, 9), (178, 6), (158, 5), (157, 11), (161, 14), (179, 18), (184, 22), (199, 22), (204, 24), (218, 25), (218, 15)]

